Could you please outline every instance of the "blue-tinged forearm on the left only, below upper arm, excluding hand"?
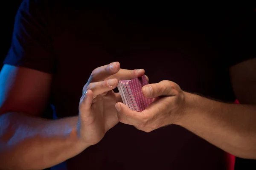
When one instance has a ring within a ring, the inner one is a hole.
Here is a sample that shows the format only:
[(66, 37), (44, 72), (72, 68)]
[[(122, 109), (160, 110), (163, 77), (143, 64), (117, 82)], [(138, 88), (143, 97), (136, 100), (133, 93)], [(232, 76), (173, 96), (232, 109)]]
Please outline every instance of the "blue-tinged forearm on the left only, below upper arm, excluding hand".
[(47, 120), (6, 113), (0, 120), (0, 169), (44, 169), (88, 147), (77, 137), (78, 117)]

